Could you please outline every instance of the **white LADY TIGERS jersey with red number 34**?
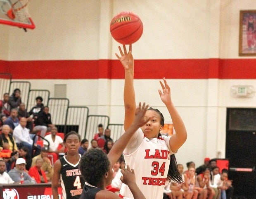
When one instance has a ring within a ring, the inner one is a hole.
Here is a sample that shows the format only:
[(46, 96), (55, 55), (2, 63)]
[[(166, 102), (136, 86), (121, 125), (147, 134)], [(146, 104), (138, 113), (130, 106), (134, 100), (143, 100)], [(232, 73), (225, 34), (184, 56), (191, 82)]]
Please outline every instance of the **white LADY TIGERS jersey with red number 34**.
[[(137, 135), (143, 136), (142, 130)], [(162, 199), (164, 185), (170, 165), (170, 137), (161, 136), (149, 140), (144, 137), (139, 147), (132, 153), (124, 155), (126, 165), (135, 171), (136, 184), (147, 199)], [(120, 194), (133, 199), (127, 185), (122, 184)]]

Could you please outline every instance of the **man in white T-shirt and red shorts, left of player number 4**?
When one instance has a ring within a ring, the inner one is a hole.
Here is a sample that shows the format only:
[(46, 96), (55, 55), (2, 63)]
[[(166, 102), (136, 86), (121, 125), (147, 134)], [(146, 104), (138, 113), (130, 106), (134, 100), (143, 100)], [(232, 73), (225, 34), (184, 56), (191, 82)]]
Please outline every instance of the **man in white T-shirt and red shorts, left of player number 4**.
[[(62, 137), (57, 135), (57, 127), (53, 126), (51, 128), (51, 134), (45, 136), (45, 140), (43, 140), (44, 147), (49, 148), (49, 152), (53, 156), (53, 163), (59, 158), (59, 153), (63, 153), (65, 150), (65, 145), (63, 143)], [(49, 146), (48, 146), (48, 142)], [(59, 149), (59, 145), (62, 147)]]

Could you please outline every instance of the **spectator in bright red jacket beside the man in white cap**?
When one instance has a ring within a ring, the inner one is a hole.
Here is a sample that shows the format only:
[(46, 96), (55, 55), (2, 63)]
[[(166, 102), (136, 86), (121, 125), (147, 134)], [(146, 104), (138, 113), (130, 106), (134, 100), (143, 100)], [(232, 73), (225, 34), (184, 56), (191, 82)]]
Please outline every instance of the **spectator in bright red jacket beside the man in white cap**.
[(47, 177), (45, 175), (45, 171), (41, 168), (43, 166), (43, 159), (36, 159), (36, 165), (31, 167), (28, 171), (28, 174), (31, 177), (34, 177), (37, 183), (46, 183), (48, 182)]

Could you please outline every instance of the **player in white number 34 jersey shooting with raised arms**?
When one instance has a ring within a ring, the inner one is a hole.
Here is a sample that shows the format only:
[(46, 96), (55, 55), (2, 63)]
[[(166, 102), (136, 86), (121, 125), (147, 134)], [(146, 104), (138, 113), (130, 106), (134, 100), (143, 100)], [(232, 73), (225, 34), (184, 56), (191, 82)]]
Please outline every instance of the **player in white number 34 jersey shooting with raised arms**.
[[(119, 46), (119, 52), (121, 57), (118, 54), (116, 57), (122, 63), (125, 71), (124, 129), (127, 130), (134, 120), (136, 110), (132, 45), (129, 46), (129, 52), (125, 45), (123, 45), (123, 50)], [(158, 109), (149, 108), (145, 118), (150, 117), (150, 120), (136, 131), (124, 150), (125, 162), (130, 168), (135, 169), (136, 184), (147, 199), (163, 198), (166, 178), (182, 182), (174, 153), (186, 141), (187, 131), (171, 100), (171, 89), (165, 78), (163, 81), (164, 83), (160, 81), (162, 90), (158, 90), (158, 92), (171, 116), (175, 134), (172, 136), (161, 135), (159, 132), (164, 126), (164, 116)], [(120, 197), (133, 198), (129, 188), (124, 184), (120, 190)]]

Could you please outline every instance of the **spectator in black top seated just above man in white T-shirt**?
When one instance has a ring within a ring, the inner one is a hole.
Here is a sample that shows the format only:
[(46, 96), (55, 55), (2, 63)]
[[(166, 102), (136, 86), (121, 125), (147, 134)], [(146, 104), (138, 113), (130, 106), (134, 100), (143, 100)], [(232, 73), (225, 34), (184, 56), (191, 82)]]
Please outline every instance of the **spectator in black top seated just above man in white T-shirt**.
[(40, 135), (45, 137), (47, 131), (50, 131), (52, 126), (51, 114), (49, 113), (49, 107), (44, 107), (43, 111), (38, 113), (38, 117), (34, 121), (35, 127), (33, 131), (40, 131)]

